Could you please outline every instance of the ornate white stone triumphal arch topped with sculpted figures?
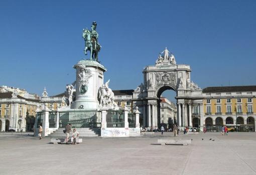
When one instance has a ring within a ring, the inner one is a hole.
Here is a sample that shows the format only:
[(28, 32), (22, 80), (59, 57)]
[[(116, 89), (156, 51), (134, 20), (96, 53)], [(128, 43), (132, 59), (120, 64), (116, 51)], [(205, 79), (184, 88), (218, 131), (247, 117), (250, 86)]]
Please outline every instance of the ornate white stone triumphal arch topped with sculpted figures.
[[(159, 54), (155, 65), (143, 70), (143, 76), (144, 83), (133, 93), (134, 103), (143, 114), (141, 125), (153, 129), (161, 126), (160, 96), (165, 90), (176, 92), (178, 126), (192, 126), (193, 106), (198, 109), (197, 115), (203, 116), (202, 89), (191, 80), (190, 65), (177, 64), (167, 48)], [(202, 117), (197, 118), (202, 120)]]

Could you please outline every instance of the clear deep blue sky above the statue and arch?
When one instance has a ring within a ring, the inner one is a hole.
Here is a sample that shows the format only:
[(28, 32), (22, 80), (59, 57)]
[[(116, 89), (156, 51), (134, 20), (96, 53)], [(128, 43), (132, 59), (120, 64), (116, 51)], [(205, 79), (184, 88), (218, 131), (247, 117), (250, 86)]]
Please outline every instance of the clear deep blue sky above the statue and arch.
[(165, 47), (207, 86), (256, 85), (256, 1), (0, 1), (0, 85), (49, 95), (75, 80), (97, 22), (111, 89), (135, 89)]

